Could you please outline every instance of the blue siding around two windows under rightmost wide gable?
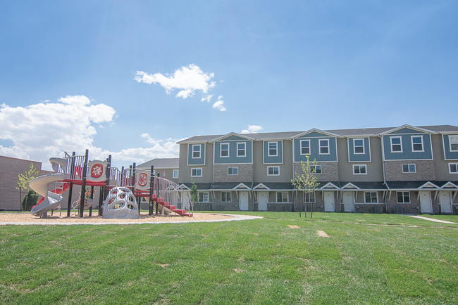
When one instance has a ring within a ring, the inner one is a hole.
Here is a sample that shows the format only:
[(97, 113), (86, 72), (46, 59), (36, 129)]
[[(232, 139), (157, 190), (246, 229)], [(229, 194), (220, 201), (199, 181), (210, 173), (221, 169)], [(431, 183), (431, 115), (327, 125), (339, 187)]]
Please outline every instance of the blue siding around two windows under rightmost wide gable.
[[(423, 152), (412, 152), (411, 136), (423, 136)], [(402, 152), (391, 152), (392, 136), (401, 137)], [(383, 152), (385, 160), (431, 160), (433, 153), (431, 150), (431, 136), (429, 134), (396, 134), (383, 136)]]

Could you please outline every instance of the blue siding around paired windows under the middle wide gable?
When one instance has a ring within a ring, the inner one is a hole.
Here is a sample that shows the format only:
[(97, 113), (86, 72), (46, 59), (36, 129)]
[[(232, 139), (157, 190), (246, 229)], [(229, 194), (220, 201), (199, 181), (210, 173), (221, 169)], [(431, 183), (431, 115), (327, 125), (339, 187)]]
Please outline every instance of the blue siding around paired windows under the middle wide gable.
[[(319, 138), (314, 136), (319, 135)], [(319, 154), (318, 140), (329, 140), (329, 155)], [(300, 138), (294, 140), (294, 151), (295, 151), (295, 162), (307, 161), (307, 156), (301, 155), (301, 140), (310, 140), (310, 160), (316, 160), (316, 162), (334, 162), (337, 161), (337, 141), (333, 136), (323, 136), (316, 132), (311, 132)]]

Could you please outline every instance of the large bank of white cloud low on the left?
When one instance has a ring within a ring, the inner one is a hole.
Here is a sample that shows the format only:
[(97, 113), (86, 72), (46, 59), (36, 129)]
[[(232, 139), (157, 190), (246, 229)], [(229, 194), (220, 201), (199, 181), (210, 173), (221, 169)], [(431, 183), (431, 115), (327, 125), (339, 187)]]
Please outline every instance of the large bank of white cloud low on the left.
[(56, 103), (46, 101), (27, 107), (0, 105), (0, 140), (12, 145), (0, 145), (0, 155), (42, 162), (51, 169), (50, 157), (63, 157), (63, 152), (84, 154), (89, 149), (91, 160), (112, 156), (113, 165), (147, 162), (156, 157), (178, 157), (180, 139), (157, 140), (141, 134), (145, 147), (125, 148), (118, 152), (94, 145), (94, 135), (102, 123), (113, 122), (116, 111), (109, 105), (92, 105), (86, 96), (66, 96)]

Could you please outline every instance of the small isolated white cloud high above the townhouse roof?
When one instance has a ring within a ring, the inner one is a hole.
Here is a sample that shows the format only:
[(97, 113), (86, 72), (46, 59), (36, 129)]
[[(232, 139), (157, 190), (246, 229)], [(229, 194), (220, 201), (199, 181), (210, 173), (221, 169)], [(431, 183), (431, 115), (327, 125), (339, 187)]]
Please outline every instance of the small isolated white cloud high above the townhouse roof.
[(194, 96), (195, 91), (198, 90), (202, 91), (202, 93), (208, 93), (209, 89), (216, 86), (216, 83), (211, 81), (213, 77), (213, 73), (204, 73), (200, 67), (194, 64), (180, 67), (171, 75), (148, 74), (143, 71), (137, 71), (135, 74), (137, 82), (160, 84), (163, 89), (166, 89), (167, 94), (178, 89), (177, 98), (189, 98)]

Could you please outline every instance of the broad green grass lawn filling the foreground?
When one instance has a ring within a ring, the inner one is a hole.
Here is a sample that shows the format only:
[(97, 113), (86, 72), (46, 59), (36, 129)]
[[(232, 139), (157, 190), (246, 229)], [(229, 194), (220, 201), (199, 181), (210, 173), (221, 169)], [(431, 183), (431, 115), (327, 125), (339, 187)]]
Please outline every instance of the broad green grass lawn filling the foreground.
[(457, 304), (458, 225), (242, 214), (265, 219), (0, 226), (0, 303)]

